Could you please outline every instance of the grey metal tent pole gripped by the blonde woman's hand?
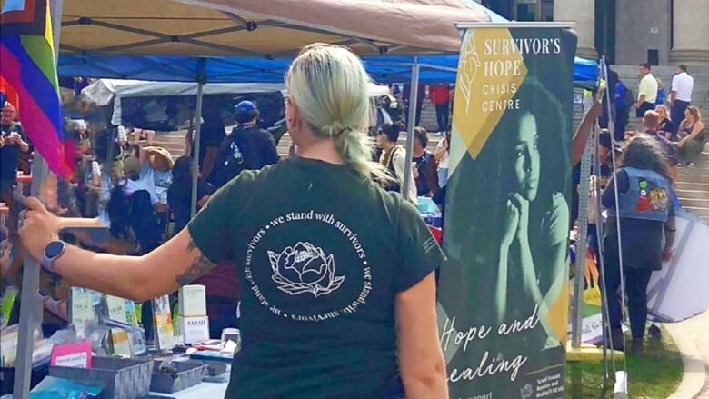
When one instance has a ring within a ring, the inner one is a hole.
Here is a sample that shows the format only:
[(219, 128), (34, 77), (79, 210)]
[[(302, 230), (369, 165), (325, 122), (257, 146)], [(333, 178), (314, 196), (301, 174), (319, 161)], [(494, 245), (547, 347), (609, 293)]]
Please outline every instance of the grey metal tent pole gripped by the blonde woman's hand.
[[(63, 0), (50, 0), (52, 18), (52, 36), (55, 45), (55, 62), (59, 59), (59, 40), (62, 21)], [(42, 186), (49, 175), (45, 159), (35, 152), (32, 165), (32, 195), (39, 197)], [(18, 190), (15, 188), (15, 190)], [(18, 193), (22, 195), (22, 193)], [(47, 198), (44, 198), (45, 203)], [(42, 302), (37, 296), (39, 291), (39, 263), (32, 256), (25, 256), (22, 274), (22, 293), (20, 297), (20, 323), (17, 332), (17, 355), (15, 357), (15, 381), (13, 392), (16, 398), (29, 397), (32, 377), (32, 353), (35, 348), (35, 330), (42, 324)]]

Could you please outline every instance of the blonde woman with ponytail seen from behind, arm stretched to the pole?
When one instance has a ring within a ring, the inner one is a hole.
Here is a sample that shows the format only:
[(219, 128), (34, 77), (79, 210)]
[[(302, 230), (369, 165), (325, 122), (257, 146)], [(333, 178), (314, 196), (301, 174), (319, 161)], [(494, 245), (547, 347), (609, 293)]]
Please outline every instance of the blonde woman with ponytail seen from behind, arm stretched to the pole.
[(299, 156), (238, 175), (155, 251), (56, 241), (61, 219), (33, 198), (25, 246), (72, 284), (139, 301), (233, 259), (243, 345), (226, 397), (447, 397), (434, 286), (444, 255), (414, 205), (374, 183), (386, 172), (371, 162), (361, 61), (309, 45), (285, 83)]

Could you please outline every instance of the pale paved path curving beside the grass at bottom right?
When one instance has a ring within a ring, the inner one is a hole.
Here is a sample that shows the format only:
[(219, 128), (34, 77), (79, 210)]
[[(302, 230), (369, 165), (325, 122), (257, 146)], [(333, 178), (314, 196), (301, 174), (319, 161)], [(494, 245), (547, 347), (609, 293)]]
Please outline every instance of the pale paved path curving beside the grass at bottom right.
[(684, 376), (671, 399), (709, 399), (709, 311), (679, 324), (665, 324), (682, 353)]

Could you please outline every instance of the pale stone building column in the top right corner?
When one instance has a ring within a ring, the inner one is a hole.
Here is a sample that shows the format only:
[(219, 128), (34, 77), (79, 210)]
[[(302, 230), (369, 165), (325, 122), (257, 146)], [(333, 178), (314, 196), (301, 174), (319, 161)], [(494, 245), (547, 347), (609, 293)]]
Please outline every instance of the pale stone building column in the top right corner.
[(709, 63), (709, 3), (706, 0), (674, 0), (674, 64)]

